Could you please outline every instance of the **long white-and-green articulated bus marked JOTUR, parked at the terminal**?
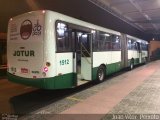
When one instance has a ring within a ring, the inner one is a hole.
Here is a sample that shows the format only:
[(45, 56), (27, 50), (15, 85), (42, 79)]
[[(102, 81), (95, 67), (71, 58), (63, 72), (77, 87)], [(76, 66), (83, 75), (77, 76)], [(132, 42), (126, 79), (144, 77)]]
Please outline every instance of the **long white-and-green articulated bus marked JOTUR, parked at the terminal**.
[(9, 20), (7, 75), (9, 81), (42, 89), (102, 82), (109, 74), (144, 63), (148, 55), (142, 48), (147, 45), (54, 11), (32, 11)]

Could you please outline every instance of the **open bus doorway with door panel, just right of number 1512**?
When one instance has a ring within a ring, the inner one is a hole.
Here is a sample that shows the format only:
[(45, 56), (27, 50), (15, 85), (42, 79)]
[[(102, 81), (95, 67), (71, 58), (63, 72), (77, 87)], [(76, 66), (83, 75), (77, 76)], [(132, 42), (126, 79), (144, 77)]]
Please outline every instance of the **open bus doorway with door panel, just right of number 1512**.
[(77, 80), (92, 80), (92, 34), (76, 31), (74, 72)]

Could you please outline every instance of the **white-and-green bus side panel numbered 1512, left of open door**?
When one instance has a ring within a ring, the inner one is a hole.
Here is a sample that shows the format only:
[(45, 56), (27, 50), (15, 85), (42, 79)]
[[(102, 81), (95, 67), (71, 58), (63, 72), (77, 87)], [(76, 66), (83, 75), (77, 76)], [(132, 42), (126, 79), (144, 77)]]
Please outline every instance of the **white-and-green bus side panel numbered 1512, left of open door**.
[(56, 68), (55, 88), (71, 88), (76, 86), (76, 73), (73, 72), (73, 53), (57, 53)]

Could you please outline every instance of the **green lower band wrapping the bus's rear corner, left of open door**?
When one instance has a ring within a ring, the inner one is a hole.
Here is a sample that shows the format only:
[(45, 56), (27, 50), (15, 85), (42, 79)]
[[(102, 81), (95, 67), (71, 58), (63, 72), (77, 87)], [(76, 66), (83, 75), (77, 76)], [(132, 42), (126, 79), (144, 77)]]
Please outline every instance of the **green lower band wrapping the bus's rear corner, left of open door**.
[(69, 73), (51, 78), (36, 78), (36, 79), (22, 78), (12, 75), (10, 73), (7, 73), (7, 75), (9, 81), (44, 89), (62, 89), (62, 88), (72, 88), (76, 86), (75, 73)]

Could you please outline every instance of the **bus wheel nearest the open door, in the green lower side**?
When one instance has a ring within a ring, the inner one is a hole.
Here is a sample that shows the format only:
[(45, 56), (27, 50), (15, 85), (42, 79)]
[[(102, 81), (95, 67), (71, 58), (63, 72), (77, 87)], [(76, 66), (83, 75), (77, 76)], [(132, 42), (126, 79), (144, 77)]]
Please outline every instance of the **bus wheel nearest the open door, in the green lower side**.
[(97, 81), (102, 82), (105, 79), (106, 70), (104, 66), (100, 66), (97, 71)]

